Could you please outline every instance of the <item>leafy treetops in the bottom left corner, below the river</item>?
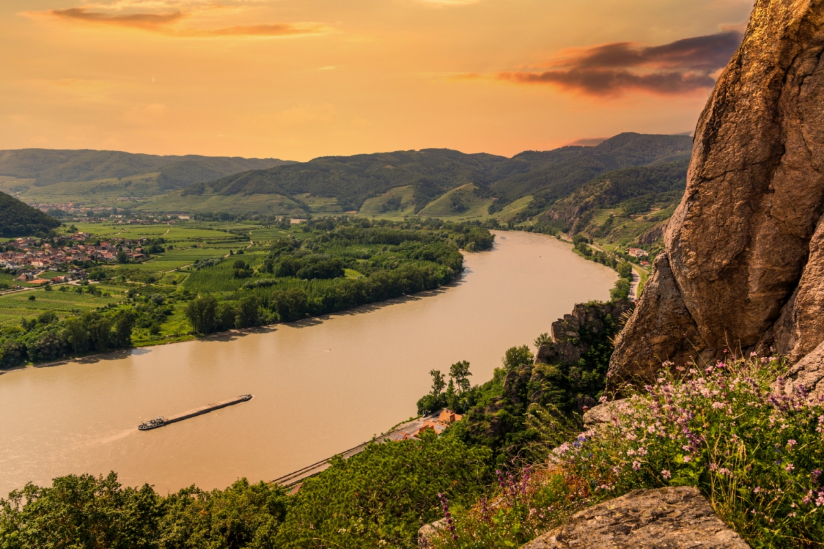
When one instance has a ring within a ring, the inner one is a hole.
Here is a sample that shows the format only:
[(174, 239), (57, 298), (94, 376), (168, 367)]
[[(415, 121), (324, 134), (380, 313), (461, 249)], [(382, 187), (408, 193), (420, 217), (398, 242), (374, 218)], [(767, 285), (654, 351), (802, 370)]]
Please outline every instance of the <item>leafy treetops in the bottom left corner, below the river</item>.
[(288, 495), (241, 479), (226, 490), (194, 486), (157, 495), (107, 477), (68, 475), (51, 487), (27, 484), (0, 500), (0, 547), (77, 549), (274, 549)]

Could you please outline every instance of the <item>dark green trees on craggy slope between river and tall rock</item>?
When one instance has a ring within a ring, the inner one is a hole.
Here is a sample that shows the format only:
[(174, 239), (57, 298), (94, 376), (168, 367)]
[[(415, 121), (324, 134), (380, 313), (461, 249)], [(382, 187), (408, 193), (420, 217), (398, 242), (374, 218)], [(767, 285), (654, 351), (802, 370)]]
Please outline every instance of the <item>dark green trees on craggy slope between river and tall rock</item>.
[[(509, 348), (493, 379), (452, 400), (451, 407), (466, 415), (445, 436), (493, 449), (497, 463), (503, 466), (525, 454), (524, 450), (528, 454), (536, 443), (558, 440), (579, 429), (583, 407), (597, 403), (606, 383), (612, 338), (621, 328), (612, 314), (619, 314), (626, 306), (578, 305), (587, 309), (581, 316), (588, 322), (576, 324), (574, 330), (561, 327), (560, 333), (574, 333), (573, 339), (562, 337), (551, 342), (542, 334), (541, 362), (534, 362), (526, 345)], [(557, 351), (558, 346), (563, 351)], [(561, 358), (576, 353), (580, 356), (577, 361)], [(419, 401), (419, 412), (444, 400), (427, 395)]]

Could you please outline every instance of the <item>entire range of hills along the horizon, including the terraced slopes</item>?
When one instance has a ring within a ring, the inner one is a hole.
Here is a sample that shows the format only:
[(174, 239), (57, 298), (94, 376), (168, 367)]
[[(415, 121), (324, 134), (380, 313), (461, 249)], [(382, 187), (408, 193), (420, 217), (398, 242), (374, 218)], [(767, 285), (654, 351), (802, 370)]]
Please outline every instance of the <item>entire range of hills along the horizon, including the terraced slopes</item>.
[(0, 190), (72, 216), (423, 216), (652, 243), (681, 198), (691, 146), (621, 133), (512, 158), (424, 149), (308, 162), (24, 149), (0, 151)]

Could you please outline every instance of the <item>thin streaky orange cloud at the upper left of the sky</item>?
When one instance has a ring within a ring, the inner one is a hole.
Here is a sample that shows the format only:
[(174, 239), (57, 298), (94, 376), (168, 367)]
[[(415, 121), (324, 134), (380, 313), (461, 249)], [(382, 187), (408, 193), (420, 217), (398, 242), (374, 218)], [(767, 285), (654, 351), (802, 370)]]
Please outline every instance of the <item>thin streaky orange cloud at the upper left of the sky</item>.
[(189, 15), (180, 11), (115, 15), (105, 12), (90, 12), (85, 7), (71, 7), (64, 10), (49, 10), (48, 12), (35, 12), (28, 15), (50, 16), (59, 21), (81, 22), (97, 26), (119, 26), (149, 30), (180, 38), (318, 35), (330, 30), (329, 26), (321, 23), (271, 23), (228, 26), (217, 29), (187, 29), (176, 25)]

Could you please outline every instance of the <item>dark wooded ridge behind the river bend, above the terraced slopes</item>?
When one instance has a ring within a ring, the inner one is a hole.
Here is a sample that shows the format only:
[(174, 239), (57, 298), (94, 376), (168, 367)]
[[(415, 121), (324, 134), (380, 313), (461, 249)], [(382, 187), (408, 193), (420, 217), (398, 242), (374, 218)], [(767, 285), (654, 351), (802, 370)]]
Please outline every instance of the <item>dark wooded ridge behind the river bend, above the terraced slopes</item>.
[(525, 151), (513, 158), (465, 154), (448, 149), (324, 156), (308, 162), (252, 170), (185, 188), (225, 196), (308, 193), (337, 198), (344, 210), (358, 210), (368, 198), (391, 188), (414, 189), (415, 212), (447, 191), (475, 184), (475, 193), (494, 198), (490, 210), (532, 196), (535, 213), (609, 170), (679, 160), (690, 156), (691, 137), (621, 133), (597, 147)]

